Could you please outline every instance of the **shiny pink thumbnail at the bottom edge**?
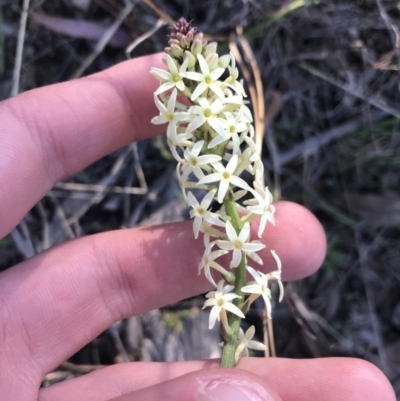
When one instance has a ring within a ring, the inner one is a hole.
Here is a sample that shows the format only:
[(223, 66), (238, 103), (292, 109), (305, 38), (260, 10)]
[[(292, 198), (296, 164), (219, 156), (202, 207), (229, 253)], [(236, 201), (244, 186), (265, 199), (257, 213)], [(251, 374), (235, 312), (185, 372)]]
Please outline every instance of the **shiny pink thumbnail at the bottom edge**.
[(256, 382), (223, 378), (202, 382), (197, 401), (274, 401), (274, 398)]

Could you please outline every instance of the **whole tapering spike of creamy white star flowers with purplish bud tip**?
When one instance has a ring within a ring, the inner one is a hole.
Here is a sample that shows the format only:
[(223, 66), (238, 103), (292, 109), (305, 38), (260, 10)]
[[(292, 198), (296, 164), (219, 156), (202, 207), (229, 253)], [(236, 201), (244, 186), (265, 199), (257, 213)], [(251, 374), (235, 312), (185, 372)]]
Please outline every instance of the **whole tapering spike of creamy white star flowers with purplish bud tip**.
[[(217, 44), (207, 43), (183, 18), (173, 26), (165, 52), (163, 62), (168, 70), (150, 71), (160, 82), (154, 94), (160, 114), (152, 123), (168, 124), (167, 141), (178, 162), (183, 196), (191, 207), (193, 234), (195, 238), (203, 234), (205, 250), (199, 274), (204, 271), (215, 287), (206, 295), (203, 308), (211, 307), (210, 328), (221, 321), (224, 347), (230, 355), (223, 365), (234, 366), (247, 348), (266, 349), (252, 340), (253, 326), (245, 334), (241, 331), (240, 319), (260, 296), (271, 318), (270, 281), (278, 282), (280, 300), (283, 296), (281, 261), (275, 251), (271, 253), (277, 269), (271, 273), (248, 264), (263, 263), (257, 252), (265, 245), (251, 239), (251, 225), (260, 218), (257, 234), (261, 238), (267, 222), (275, 224), (272, 195), (259, 182), (263, 164), (233, 54), (219, 56)], [(245, 171), (254, 176), (253, 187), (240, 177)], [(240, 202), (243, 198), (246, 200)], [(226, 254), (231, 256), (230, 265), (223, 267), (217, 260)], [(246, 270), (253, 281), (246, 282)], [(221, 277), (218, 282), (216, 272)]]

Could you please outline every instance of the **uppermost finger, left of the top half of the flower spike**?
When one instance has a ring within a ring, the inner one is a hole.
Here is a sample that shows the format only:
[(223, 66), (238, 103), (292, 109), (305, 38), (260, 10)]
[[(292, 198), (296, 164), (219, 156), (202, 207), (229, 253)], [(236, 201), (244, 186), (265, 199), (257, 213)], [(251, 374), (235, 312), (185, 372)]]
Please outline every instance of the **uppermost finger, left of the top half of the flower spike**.
[(161, 133), (150, 76), (160, 55), (0, 103), (0, 238), (60, 179), (129, 142)]

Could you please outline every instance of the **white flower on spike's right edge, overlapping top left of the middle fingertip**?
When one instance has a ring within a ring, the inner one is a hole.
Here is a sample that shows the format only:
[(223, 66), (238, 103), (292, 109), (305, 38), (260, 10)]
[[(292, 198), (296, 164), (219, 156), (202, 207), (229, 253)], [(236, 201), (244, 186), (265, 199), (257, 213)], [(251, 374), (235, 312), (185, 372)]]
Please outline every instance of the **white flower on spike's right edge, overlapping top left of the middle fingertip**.
[(264, 232), (267, 221), (275, 225), (275, 207), (272, 204), (272, 194), (268, 187), (263, 188), (257, 182), (254, 182), (255, 191), (251, 191), (254, 195), (254, 199), (243, 202), (247, 206), (247, 209), (254, 214), (261, 216), (260, 226), (258, 228), (258, 236), (261, 238)]

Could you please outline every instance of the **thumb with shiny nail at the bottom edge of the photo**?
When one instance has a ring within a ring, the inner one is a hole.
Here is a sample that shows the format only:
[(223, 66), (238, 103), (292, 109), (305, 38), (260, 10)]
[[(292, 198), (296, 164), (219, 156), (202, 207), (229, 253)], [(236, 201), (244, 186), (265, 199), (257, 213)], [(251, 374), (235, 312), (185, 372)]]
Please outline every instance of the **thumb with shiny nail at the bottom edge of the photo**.
[(112, 401), (282, 401), (261, 377), (240, 369), (207, 369), (124, 394)]

